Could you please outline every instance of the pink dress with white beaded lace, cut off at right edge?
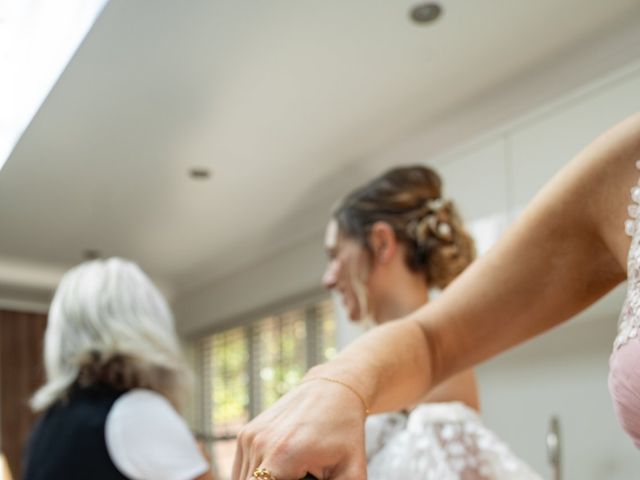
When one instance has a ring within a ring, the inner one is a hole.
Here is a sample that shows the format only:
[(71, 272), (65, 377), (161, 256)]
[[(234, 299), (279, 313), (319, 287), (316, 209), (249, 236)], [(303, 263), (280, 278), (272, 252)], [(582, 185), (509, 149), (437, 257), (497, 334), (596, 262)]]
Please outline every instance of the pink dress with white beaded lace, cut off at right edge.
[[(636, 166), (640, 170), (640, 161)], [(640, 186), (631, 189), (631, 198), (631, 219), (625, 223), (625, 231), (632, 237), (627, 259), (627, 297), (609, 360), (609, 391), (622, 428), (640, 448)]]

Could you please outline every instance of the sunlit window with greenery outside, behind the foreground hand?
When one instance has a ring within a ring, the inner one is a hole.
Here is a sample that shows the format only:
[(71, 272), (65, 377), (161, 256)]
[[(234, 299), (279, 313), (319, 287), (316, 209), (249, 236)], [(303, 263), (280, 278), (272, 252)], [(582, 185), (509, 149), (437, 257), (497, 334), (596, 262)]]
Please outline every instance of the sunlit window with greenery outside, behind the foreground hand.
[(229, 478), (235, 436), (252, 413), (296, 386), (309, 366), (335, 356), (333, 308), (326, 300), (199, 342), (202, 428), (213, 440), (211, 454), (221, 479)]

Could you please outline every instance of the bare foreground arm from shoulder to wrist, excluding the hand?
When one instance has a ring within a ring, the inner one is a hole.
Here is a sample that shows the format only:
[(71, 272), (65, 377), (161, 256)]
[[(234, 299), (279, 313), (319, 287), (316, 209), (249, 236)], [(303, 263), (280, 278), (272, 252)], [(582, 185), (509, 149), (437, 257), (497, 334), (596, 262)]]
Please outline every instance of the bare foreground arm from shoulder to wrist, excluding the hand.
[(329, 373), (357, 385), (374, 410), (400, 408), (593, 303), (625, 278), (639, 159), (635, 115), (563, 168), (438, 299), (354, 342)]

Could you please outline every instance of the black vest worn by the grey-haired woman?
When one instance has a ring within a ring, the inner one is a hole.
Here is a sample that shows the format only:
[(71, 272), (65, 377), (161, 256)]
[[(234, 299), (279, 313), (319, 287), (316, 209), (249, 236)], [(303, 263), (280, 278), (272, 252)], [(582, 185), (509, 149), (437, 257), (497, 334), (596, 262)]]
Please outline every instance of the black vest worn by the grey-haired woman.
[(109, 410), (123, 392), (74, 389), (49, 408), (29, 439), (23, 480), (121, 480), (105, 441)]

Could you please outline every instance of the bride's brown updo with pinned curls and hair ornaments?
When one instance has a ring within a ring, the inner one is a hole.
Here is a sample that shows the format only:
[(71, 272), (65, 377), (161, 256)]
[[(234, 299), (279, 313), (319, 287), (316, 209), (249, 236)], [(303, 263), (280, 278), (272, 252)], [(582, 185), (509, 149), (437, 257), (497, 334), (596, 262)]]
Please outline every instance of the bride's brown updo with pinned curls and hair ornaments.
[(334, 210), (341, 235), (357, 240), (369, 255), (371, 227), (388, 224), (406, 251), (406, 263), (431, 288), (446, 287), (474, 259), (475, 247), (442, 180), (424, 166), (397, 167), (344, 198)]

